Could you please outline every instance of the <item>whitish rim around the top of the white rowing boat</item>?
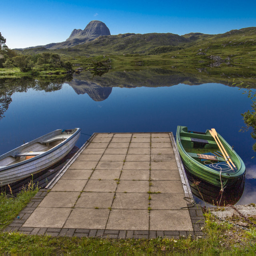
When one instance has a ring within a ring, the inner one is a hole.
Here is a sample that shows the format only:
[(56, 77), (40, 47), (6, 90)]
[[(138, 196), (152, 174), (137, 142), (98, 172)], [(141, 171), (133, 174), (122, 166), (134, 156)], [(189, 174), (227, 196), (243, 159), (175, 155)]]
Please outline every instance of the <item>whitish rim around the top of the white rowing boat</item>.
[[(27, 160), (24, 160), (24, 161), (21, 161), (19, 163), (16, 163), (16, 164), (11, 164), (11, 165), (8, 165), (8, 166), (0, 166), (0, 172), (1, 171), (4, 171), (4, 170), (8, 170), (10, 168), (14, 168), (14, 167), (17, 167), (17, 166), (20, 166), (20, 165), (23, 165), (23, 164), (27, 164), (29, 162), (32, 162), (34, 160), (37, 160), (39, 158), (42, 158), (52, 152), (54, 152), (55, 150), (57, 150), (58, 148), (62, 147), (64, 144), (66, 144), (68, 141), (70, 141), (72, 138), (76, 137), (80, 132), (81, 132), (81, 128), (74, 128), (74, 129), (77, 129), (69, 138), (67, 138), (66, 140), (60, 142), (59, 144), (57, 144), (56, 146), (54, 146), (53, 148), (51, 148), (50, 150), (47, 150), (45, 151), (44, 153), (38, 155), (38, 156), (34, 156), (33, 158), (29, 158)], [(36, 143), (36, 142), (39, 142), (38, 140), (40, 138), (43, 138), (44, 136), (47, 136), (47, 135), (50, 135), (50, 134), (54, 134), (54, 132), (57, 132), (57, 131), (61, 131), (62, 129), (58, 129), (58, 130), (54, 130), (52, 132), (49, 132), (48, 134), (44, 134), (43, 136), (40, 136), (39, 138), (36, 138), (35, 140), (31, 140), (30, 142), (27, 142), (26, 144), (29, 144), (29, 143)], [(69, 129), (65, 129), (65, 130), (69, 130)], [(24, 145), (26, 145), (24, 144)], [(24, 146), (24, 145), (21, 145), (21, 146)], [(3, 154), (2, 156), (6, 155), (5, 157), (8, 157), (8, 156), (12, 156), (10, 153), (13, 153), (16, 151), (18, 151), (18, 148), (20, 148), (21, 146), (17, 147), (17, 148), (14, 148), (13, 150), (10, 150), (9, 152), (6, 152), (5, 154)], [(9, 154), (9, 155), (8, 155)], [(0, 158), (2, 157), (0, 156)], [(3, 157), (2, 159), (4, 159), (5, 157)]]

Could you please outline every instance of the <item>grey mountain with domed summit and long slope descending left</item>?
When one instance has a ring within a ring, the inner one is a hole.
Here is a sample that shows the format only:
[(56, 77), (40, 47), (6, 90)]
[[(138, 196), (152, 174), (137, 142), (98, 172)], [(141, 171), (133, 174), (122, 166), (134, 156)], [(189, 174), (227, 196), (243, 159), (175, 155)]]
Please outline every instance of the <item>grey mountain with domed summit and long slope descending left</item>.
[(68, 48), (75, 46), (77, 44), (84, 44), (90, 42), (99, 36), (110, 36), (110, 30), (104, 22), (99, 20), (92, 20), (87, 24), (87, 26), (82, 29), (74, 29), (70, 34), (69, 38), (65, 42), (60, 43), (51, 43), (40, 46), (32, 46), (24, 49), (16, 50), (25, 50), (38, 47), (44, 47), (45, 49), (55, 50), (60, 48)]

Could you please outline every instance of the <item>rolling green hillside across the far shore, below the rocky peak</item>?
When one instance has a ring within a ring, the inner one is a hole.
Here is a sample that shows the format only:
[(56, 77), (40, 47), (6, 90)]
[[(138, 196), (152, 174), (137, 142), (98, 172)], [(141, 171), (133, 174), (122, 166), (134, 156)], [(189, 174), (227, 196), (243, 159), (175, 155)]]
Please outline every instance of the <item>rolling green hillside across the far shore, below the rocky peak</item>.
[[(18, 50), (34, 55), (58, 54), (73, 68), (97, 70), (177, 69), (185, 73), (206, 73), (227, 78), (256, 79), (256, 27), (231, 30), (224, 34), (166, 33), (100, 36), (70, 48), (44, 47)], [(234, 74), (234, 75), (227, 75)]]

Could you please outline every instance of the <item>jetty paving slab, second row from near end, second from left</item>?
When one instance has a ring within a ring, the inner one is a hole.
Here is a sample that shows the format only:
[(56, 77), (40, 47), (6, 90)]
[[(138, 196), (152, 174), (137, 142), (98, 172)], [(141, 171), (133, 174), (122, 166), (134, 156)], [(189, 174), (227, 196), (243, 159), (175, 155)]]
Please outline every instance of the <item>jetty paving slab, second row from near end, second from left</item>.
[(82, 192), (75, 208), (106, 208), (112, 205), (114, 192)]

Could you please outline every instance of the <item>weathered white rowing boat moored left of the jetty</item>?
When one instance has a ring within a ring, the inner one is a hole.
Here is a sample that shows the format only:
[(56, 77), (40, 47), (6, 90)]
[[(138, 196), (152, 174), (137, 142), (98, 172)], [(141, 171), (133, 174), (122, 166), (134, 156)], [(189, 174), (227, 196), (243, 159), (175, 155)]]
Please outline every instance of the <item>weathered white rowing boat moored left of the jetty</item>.
[(0, 186), (40, 172), (62, 159), (76, 144), (81, 129), (56, 130), (0, 156)]

